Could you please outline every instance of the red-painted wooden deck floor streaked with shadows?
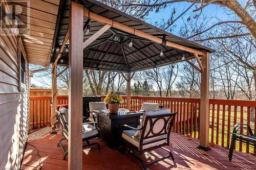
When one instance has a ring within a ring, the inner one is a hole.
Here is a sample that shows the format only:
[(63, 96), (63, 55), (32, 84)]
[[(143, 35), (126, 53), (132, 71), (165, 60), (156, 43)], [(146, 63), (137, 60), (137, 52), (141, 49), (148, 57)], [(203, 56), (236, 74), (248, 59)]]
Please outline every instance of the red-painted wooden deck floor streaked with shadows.
[[(62, 138), (61, 133), (51, 135), (49, 132), (49, 127), (40, 128), (29, 135), (23, 169), (40, 169), (39, 160), (41, 169), (67, 169), (67, 158), (62, 160), (63, 152), (60, 147), (57, 147), (58, 141)], [(83, 169), (142, 169), (139, 161), (132, 156), (120, 155), (103, 141), (98, 140), (98, 142), (101, 145), (101, 151), (94, 146), (83, 149)], [(149, 166), (148, 169), (256, 169), (256, 157), (249, 154), (234, 151), (232, 162), (230, 162), (227, 157), (228, 150), (219, 145), (204, 152), (197, 149), (198, 139), (178, 133), (171, 133), (171, 142), (173, 145), (167, 148), (173, 152), (175, 163), (171, 159), (165, 159)], [(162, 150), (155, 150), (141, 155), (141, 158), (150, 161), (163, 154)]]

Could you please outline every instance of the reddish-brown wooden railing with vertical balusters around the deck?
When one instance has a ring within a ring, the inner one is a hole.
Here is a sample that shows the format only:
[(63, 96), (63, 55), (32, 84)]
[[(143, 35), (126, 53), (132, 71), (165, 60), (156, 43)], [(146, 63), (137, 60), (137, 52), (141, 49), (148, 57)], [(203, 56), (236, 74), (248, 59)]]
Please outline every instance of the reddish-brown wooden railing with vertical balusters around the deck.
[[(126, 107), (126, 96), (122, 96)], [(102, 100), (105, 96), (101, 96)], [(68, 96), (58, 96), (59, 104), (68, 104)], [(165, 98), (155, 96), (131, 96), (131, 109), (140, 110), (143, 102), (159, 103), (171, 112), (177, 112), (173, 131), (200, 138), (200, 99)], [(50, 126), (51, 96), (30, 97), (30, 128)], [(229, 148), (232, 128), (237, 123), (250, 125), (254, 132), (256, 123), (256, 101), (210, 99), (209, 141)], [(242, 133), (242, 132), (241, 132)], [(247, 132), (248, 133), (248, 132)], [(249, 144), (238, 142), (236, 149), (256, 153)]]

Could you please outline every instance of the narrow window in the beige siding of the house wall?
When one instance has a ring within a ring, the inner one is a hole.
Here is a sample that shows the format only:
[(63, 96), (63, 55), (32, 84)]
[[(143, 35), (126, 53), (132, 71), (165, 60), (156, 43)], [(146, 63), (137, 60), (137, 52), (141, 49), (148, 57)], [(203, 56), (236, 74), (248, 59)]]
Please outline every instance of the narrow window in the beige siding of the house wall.
[(19, 38), (18, 45), (19, 54), (19, 91), (25, 91), (26, 89), (26, 55), (23, 48), (22, 40)]

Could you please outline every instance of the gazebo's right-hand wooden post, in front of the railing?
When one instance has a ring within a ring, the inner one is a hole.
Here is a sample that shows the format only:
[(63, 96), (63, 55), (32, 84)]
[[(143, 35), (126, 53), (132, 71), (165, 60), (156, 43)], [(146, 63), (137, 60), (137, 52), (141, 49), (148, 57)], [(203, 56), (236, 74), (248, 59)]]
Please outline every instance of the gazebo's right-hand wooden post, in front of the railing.
[(209, 148), (209, 53), (201, 57), (201, 100), (200, 100), (200, 145), (199, 149)]

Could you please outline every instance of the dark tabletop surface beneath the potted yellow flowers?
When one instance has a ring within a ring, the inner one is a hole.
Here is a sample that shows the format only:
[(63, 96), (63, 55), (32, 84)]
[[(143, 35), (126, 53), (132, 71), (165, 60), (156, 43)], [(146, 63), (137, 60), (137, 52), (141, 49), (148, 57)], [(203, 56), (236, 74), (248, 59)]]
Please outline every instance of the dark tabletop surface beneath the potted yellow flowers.
[(143, 114), (143, 112), (130, 111), (128, 109), (119, 109), (117, 113), (110, 113), (109, 110), (94, 110), (93, 113), (109, 119), (137, 117)]

